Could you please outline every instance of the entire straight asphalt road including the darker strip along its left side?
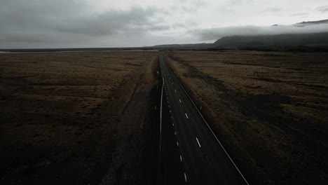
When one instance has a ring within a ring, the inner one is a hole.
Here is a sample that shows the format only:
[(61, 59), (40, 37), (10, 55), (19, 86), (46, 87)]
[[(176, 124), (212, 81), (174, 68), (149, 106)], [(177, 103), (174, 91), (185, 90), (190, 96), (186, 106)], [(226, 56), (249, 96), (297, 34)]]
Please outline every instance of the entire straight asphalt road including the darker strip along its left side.
[(160, 54), (160, 184), (248, 184)]

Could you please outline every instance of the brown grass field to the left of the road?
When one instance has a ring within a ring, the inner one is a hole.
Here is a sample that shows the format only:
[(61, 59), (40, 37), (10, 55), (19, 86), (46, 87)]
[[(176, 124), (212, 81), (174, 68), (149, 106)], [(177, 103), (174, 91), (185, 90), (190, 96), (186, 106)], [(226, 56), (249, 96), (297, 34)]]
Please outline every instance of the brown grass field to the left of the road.
[(0, 54), (0, 184), (140, 181), (157, 55)]

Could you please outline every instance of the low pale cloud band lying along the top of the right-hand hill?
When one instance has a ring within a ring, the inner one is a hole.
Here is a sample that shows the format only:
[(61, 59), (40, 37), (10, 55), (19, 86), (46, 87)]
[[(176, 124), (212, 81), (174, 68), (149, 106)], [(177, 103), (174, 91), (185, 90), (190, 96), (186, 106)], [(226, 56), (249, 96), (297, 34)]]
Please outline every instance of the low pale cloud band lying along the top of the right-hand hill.
[(322, 25), (305, 25), (303, 27), (295, 25), (278, 25), (271, 27), (219, 27), (210, 29), (198, 29), (193, 31), (192, 34), (198, 36), (200, 40), (210, 41), (220, 39), (223, 36), (234, 35), (265, 35), (265, 34), (304, 34), (304, 33), (317, 33), (327, 32), (328, 24)]

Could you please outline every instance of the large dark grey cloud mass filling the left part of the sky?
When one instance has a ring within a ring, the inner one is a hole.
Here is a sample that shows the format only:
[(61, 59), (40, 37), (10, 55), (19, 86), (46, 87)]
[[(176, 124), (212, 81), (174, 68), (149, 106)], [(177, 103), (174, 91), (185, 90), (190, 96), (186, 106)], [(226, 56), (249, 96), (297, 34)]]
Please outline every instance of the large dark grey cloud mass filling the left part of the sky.
[[(1, 0), (1, 42), (86, 41), (97, 36), (168, 29), (151, 20), (156, 8), (94, 13), (82, 1)], [(1, 44), (1, 43), (0, 43)]]

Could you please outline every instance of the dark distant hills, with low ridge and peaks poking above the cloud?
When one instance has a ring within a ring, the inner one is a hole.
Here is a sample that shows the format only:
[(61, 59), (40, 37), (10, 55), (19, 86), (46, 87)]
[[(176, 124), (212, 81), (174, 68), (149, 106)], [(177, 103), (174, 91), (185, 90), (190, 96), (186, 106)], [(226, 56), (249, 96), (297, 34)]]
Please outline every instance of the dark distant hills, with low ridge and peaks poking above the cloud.
[[(292, 27), (308, 27), (311, 25), (328, 25), (328, 20), (303, 21)], [(279, 27), (281, 25), (272, 25)], [(276, 35), (255, 35), (255, 36), (224, 36), (214, 43), (190, 43), (190, 44), (165, 44), (151, 46), (148, 48), (162, 49), (204, 49), (204, 48), (238, 48), (238, 47), (282, 47), (282, 46), (328, 46), (328, 30), (321, 33), (310, 34), (276, 34)]]

